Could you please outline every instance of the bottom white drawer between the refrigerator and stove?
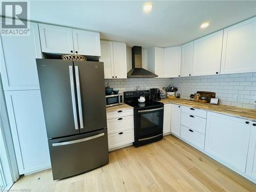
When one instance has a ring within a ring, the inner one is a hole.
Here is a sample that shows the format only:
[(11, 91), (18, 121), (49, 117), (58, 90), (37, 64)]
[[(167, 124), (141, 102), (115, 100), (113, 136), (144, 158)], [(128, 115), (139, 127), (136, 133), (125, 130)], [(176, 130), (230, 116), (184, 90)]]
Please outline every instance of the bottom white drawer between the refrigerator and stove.
[[(122, 134), (121, 134), (122, 133)], [(134, 142), (134, 130), (113, 133), (109, 137), (109, 150), (114, 147), (122, 146)]]

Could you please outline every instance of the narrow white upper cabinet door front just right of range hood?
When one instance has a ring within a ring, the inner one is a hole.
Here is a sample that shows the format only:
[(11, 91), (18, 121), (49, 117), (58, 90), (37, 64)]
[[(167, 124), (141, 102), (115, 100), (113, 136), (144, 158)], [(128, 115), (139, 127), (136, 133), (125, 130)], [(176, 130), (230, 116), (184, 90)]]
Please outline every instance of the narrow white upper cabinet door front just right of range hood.
[(158, 75), (158, 78), (164, 77), (164, 48), (155, 47), (155, 73)]

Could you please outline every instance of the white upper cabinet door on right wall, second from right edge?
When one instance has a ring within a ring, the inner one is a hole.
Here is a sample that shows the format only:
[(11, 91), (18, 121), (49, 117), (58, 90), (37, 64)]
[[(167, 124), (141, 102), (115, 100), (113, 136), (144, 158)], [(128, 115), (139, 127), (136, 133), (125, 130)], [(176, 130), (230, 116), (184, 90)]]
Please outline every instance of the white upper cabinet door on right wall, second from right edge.
[(194, 40), (192, 74), (220, 73), (223, 30)]

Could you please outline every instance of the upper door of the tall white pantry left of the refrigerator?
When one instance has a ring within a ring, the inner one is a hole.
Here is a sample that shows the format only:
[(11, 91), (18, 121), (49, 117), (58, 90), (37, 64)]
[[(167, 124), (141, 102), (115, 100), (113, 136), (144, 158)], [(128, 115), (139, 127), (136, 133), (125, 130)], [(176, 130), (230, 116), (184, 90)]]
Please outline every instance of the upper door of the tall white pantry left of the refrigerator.
[(1, 36), (1, 73), (4, 90), (39, 89), (36, 58), (41, 58), (38, 26), (30, 23), (30, 36)]

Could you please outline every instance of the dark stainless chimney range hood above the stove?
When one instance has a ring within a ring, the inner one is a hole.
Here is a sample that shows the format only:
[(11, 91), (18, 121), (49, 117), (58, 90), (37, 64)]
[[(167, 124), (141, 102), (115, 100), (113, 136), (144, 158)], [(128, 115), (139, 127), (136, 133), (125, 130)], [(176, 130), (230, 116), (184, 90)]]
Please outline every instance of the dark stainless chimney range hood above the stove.
[(152, 78), (158, 75), (142, 68), (142, 48), (132, 48), (132, 69), (127, 73), (127, 78)]

